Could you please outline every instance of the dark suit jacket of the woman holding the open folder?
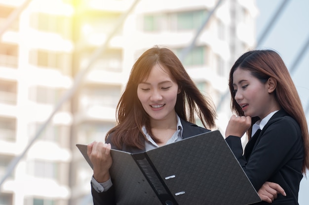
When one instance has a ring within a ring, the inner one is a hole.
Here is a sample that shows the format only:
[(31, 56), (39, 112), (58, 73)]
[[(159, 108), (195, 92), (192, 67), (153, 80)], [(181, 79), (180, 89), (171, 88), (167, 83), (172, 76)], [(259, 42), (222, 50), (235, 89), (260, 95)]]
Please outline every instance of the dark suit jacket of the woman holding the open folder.
[[(210, 131), (183, 119), (181, 119), (181, 124), (183, 126), (183, 139)], [(110, 139), (107, 140), (107, 143), (111, 143)], [(112, 145), (112, 148), (115, 149), (116, 147)], [(139, 153), (145, 151), (145, 149), (138, 149), (131, 146), (123, 146), (121, 150), (131, 153)], [(116, 205), (114, 185), (108, 191), (101, 193), (95, 191), (94, 188), (91, 186), (91, 193), (94, 205)]]

